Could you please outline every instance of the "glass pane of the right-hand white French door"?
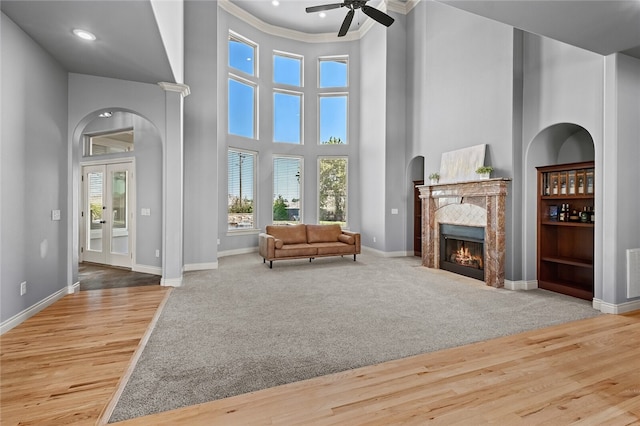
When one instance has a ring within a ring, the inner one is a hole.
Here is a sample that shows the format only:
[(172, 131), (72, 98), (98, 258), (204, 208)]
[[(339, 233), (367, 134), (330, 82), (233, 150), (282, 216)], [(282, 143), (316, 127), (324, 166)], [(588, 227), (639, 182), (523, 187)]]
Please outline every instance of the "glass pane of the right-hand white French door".
[(111, 173), (111, 253), (129, 253), (129, 229), (127, 223), (128, 172)]

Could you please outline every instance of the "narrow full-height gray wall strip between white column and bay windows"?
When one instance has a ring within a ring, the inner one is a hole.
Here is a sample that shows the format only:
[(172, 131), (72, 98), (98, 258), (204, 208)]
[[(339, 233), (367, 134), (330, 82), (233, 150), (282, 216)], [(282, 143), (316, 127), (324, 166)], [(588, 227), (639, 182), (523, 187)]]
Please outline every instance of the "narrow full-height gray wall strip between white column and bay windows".
[[(184, 263), (187, 269), (216, 267), (218, 259), (218, 62), (216, 2), (184, 6)], [(203, 43), (203, 40), (207, 42)]]

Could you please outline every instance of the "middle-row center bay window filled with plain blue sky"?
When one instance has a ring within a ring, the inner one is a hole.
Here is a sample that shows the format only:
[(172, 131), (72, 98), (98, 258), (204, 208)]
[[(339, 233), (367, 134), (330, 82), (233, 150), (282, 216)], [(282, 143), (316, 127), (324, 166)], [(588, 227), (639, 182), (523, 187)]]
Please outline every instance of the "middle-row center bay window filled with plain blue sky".
[(302, 143), (302, 93), (273, 93), (273, 141)]

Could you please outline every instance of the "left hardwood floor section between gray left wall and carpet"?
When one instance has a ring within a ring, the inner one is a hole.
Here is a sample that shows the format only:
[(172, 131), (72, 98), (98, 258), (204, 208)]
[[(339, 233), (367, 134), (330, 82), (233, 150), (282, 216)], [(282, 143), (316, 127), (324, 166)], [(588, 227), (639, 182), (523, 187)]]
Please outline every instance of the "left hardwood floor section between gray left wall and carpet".
[(3, 334), (0, 424), (95, 424), (130, 374), (169, 291), (81, 291)]

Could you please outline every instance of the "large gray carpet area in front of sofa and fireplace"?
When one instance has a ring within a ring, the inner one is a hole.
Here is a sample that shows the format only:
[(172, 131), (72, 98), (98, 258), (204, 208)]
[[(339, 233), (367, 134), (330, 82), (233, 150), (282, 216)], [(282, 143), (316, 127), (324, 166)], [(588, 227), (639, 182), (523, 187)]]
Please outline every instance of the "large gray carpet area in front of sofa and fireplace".
[(420, 259), (221, 258), (172, 292), (111, 416), (120, 421), (599, 315)]

